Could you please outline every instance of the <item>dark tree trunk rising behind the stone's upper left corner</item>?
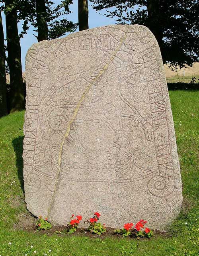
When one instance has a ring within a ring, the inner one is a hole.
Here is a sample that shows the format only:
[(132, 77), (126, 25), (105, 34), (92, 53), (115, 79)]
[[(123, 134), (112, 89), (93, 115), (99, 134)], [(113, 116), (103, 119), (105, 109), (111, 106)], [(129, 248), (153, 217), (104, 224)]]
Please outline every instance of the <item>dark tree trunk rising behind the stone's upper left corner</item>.
[(36, 0), (38, 42), (48, 40), (45, 0)]

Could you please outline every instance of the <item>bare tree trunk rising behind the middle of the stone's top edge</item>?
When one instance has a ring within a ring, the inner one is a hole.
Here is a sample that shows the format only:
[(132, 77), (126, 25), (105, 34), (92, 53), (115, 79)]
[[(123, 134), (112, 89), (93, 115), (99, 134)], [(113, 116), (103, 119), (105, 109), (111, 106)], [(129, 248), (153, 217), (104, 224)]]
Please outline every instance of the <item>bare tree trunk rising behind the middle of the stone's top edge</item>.
[(88, 0), (78, 0), (79, 31), (88, 30)]

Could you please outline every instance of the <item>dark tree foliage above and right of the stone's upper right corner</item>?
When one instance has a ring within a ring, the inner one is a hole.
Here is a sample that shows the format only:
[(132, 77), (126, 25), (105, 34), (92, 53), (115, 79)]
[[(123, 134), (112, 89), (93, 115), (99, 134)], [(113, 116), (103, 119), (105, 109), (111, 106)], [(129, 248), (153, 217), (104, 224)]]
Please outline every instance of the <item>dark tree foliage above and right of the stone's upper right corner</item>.
[(155, 35), (164, 63), (191, 66), (199, 61), (198, 0), (90, 0), (117, 24), (140, 24)]

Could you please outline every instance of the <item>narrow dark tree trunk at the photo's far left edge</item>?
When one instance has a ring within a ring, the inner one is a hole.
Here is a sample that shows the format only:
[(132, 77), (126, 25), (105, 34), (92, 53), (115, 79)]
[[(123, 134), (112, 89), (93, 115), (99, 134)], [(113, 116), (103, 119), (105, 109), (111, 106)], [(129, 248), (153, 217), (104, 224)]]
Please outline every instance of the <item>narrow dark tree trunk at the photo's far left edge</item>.
[(0, 12), (0, 117), (8, 114), (6, 102), (6, 66), (5, 66), (4, 30)]

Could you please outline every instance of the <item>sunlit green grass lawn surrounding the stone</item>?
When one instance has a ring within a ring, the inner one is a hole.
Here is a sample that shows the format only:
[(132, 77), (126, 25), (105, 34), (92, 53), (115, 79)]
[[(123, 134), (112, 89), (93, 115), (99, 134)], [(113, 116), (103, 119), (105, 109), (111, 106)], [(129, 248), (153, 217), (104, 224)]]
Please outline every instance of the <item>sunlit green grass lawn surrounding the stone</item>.
[(28, 215), (23, 200), (21, 156), (24, 111), (0, 118), (0, 255), (198, 256), (199, 91), (170, 91), (170, 100), (181, 165), (184, 203), (178, 219), (168, 227), (168, 235), (156, 234), (150, 240), (113, 237), (102, 240), (100, 237), (68, 234), (47, 236), (21, 230), (18, 223), (23, 216)]

